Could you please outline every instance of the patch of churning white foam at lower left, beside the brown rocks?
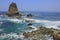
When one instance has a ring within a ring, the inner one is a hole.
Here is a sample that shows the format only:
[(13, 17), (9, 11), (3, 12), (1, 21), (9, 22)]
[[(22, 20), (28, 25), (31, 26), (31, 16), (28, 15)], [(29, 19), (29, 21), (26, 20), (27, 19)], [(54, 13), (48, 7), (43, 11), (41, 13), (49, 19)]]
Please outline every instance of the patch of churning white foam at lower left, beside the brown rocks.
[(17, 35), (16, 33), (10, 33), (10, 34), (4, 34), (4, 35), (0, 35), (0, 38), (5, 39), (5, 38), (9, 38), (9, 39), (21, 39), (24, 38), (24, 36), (22, 34)]

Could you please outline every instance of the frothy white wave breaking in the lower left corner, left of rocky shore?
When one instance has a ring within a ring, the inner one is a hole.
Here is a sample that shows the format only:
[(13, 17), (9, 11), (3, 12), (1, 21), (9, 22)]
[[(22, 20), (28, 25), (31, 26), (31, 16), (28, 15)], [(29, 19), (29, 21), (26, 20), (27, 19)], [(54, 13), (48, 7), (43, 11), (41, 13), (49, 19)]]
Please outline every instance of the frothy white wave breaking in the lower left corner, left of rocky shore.
[(18, 39), (23, 39), (24, 36), (22, 34), (16, 34), (16, 33), (12, 33), (11, 32), (10, 34), (5, 34), (5, 33), (1, 34), (0, 38), (2, 40), (5, 40), (5, 39), (7, 39), (7, 40), (10, 40), (10, 39), (12, 39), (12, 40), (13, 39), (18, 40)]

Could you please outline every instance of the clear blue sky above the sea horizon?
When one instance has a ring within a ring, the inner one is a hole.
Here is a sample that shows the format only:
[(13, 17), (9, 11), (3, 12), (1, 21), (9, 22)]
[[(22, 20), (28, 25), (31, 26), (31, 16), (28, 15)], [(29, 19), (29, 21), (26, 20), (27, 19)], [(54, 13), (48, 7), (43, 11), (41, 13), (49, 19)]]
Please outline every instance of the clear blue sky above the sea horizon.
[(12, 2), (19, 11), (60, 12), (60, 0), (0, 0), (0, 11), (8, 11)]

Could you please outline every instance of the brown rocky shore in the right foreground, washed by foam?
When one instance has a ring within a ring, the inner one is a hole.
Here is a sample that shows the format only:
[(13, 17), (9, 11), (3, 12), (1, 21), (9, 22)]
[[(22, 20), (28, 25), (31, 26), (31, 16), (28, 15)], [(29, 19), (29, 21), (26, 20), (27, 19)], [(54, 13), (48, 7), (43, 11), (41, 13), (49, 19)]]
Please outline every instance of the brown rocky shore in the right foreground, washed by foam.
[(60, 40), (60, 30), (53, 29), (53, 28), (40, 27), (38, 30), (32, 32), (24, 32), (23, 35), (25, 38), (30, 37), (33, 40), (44, 39), (44, 37), (46, 36), (47, 38), (49, 36), (51, 40)]

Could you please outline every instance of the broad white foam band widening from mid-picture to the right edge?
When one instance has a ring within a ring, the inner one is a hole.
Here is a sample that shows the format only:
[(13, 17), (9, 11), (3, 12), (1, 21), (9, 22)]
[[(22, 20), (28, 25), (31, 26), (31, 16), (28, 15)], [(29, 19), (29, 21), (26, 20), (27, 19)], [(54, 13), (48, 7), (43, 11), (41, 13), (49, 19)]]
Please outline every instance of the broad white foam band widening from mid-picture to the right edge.
[(60, 21), (37, 20), (37, 19), (30, 19), (30, 18), (24, 18), (24, 19), (29, 21), (34, 21), (34, 23), (43, 23), (43, 25), (47, 28), (60, 29), (58, 27), (60, 26)]

